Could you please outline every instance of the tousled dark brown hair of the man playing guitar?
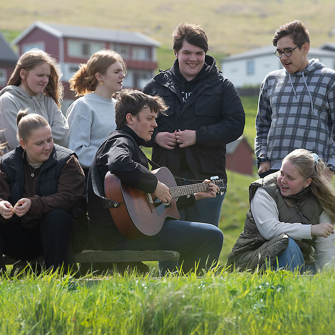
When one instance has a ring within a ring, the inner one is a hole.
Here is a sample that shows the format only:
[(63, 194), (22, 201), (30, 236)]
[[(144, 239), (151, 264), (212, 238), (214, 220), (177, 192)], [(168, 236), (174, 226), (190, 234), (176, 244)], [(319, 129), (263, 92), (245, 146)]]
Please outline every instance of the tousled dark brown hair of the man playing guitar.
[(135, 89), (124, 88), (118, 94), (115, 105), (115, 122), (117, 127), (123, 128), (126, 123), (126, 115), (130, 113), (136, 116), (143, 107), (150, 108), (157, 115), (159, 112), (165, 115), (165, 111), (169, 108), (159, 95), (151, 96)]

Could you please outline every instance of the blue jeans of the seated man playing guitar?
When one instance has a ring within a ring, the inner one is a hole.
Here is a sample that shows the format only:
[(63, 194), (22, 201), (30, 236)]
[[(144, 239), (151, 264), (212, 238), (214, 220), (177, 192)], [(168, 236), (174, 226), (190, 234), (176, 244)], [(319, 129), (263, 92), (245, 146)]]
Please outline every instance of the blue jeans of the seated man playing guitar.
[[(180, 253), (176, 265), (183, 263), (183, 271), (194, 269), (199, 262), (199, 269), (208, 269), (217, 262), (223, 243), (221, 230), (211, 224), (165, 220), (162, 229), (154, 236), (139, 241), (123, 240), (110, 250), (174, 250)], [(162, 263), (162, 262), (160, 262)], [(160, 267), (164, 275), (169, 267)], [(172, 269), (171, 269), (172, 270)]]

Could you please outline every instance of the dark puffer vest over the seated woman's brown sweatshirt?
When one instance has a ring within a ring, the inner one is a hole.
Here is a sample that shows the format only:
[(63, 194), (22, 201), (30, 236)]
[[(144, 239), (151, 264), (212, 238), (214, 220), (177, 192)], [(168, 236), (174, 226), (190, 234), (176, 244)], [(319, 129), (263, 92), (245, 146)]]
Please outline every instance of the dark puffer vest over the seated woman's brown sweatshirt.
[[(10, 199), (8, 201), (11, 204), (15, 204), (23, 196), (23, 152), (22, 147), (18, 145), (14, 150), (1, 157), (1, 166), (10, 182)], [(74, 151), (54, 144), (49, 159), (41, 165), (38, 181), (38, 195), (40, 197), (57, 192), (59, 175), (71, 155), (77, 157)], [(18, 216), (13, 216), (12, 221), (18, 222), (19, 219)]]

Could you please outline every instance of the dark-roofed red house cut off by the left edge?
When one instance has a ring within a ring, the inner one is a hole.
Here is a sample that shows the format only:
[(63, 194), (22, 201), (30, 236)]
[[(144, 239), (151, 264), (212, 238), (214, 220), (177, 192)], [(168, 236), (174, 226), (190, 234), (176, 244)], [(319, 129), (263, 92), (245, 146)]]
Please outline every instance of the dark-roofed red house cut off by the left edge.
[(7, 86), (17, 60), (17, 55), (0, 32), (0, 90)]

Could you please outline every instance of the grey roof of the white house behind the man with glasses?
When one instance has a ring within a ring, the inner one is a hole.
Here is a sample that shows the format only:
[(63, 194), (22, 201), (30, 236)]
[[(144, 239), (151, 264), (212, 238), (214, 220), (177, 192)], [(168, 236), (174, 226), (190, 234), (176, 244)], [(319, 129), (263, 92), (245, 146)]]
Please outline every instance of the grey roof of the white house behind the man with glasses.
[[(273, 54), (274, 51), (276, 51), (276, 47), (273, 46), (273, 45), (268, 45), (268, 46), (265, 46), (265, 47), (259, 47), (259, 48), (251, 49), (249, 51), (242, 52), (240, 54), (236, 54), (236, 55), (221, 58), (221, 62), (230, 62), (230, 61), (236, 61), (236, 60), (240, 60), (240, 59), (255, 58), (255, 57), (260, 57), (260, 56), (264, 56), (264, 55), (268, 56), (268, 55)], [(334, 47), (334, 51), (324, 50), (324, 49), (321, 49), (321, 48), (310, 48), (310, 51), (309, 51), (308, 55), (313, 56), (313, 57), (309, 57), (309, 58), (314, 58), (314, 56), (317, 56), (317, 57), (320, 57), (320, 56), (335, 57), (335, 47)]]

